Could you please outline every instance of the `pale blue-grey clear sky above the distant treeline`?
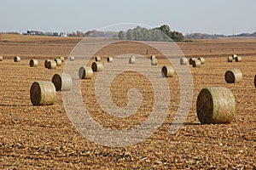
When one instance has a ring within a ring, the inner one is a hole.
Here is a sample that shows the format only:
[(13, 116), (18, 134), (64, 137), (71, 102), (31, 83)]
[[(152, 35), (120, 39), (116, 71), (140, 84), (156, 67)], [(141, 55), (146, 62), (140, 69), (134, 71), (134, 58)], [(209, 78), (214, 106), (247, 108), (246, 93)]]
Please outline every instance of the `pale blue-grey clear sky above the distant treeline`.
[(184, 35), (232, 35), (256, 31), (255, 8), (255, 0), (1, 0), (0, 31), (119, 31), (167, 24)]

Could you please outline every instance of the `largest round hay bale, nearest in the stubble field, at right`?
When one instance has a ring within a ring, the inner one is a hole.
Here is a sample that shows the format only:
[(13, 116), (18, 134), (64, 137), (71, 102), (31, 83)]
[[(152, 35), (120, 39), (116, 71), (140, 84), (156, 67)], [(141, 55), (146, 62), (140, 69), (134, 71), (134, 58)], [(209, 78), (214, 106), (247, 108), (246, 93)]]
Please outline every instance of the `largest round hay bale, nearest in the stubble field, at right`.
[(229, 88), (203, 88), (196, 100), (196, 113), (202, 124), (230, 123), (236, 115), (234, 95)]

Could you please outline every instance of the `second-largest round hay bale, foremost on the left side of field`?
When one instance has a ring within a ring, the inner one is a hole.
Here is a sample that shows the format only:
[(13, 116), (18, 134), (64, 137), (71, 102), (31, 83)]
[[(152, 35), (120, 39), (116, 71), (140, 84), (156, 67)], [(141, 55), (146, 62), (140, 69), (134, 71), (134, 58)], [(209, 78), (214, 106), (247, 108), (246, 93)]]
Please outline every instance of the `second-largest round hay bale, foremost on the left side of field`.
[(33, 82), (30, 88), (32, 105), (53, 105), (56, 91), (52, 82)]

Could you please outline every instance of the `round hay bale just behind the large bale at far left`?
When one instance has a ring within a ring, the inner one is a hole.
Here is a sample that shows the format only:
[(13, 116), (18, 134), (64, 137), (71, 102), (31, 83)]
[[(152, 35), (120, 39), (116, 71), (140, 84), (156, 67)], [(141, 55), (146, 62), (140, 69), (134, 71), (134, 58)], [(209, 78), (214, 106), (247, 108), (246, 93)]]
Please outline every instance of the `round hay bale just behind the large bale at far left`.
[(56, 73), (51, 82), (54, 83), (56, 91), (69, 91), (73, 85), (72, 78), (67, 73)]

